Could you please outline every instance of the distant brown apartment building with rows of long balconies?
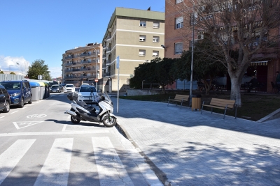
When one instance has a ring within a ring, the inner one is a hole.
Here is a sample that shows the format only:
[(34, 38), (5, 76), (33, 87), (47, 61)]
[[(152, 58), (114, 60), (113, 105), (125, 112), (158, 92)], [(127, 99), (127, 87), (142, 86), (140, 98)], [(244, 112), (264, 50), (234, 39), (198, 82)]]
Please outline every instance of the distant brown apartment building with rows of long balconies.
[[(95, 81), (102, 79), (102, 52), (102, 44), (97, 42), (66, 50), (62, 54), (62, 82), (75, 86), (96, 85)], [(100, 88), (102, 86), (97, 87)]]

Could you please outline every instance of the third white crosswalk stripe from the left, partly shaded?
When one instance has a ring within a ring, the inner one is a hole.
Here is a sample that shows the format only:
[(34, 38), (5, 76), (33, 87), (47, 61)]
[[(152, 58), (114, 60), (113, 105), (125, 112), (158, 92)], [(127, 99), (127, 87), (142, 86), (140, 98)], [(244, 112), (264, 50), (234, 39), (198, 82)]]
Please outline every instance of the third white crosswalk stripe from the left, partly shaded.
[(92, 137), (92, 145), (101, 186), (134, 185), (109, 137)]

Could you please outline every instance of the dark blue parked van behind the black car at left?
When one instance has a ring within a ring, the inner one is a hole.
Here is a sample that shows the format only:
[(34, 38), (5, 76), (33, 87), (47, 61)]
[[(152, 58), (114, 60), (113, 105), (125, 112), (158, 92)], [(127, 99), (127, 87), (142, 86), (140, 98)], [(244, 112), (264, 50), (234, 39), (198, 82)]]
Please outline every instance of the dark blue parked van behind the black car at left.
[(28, 81), (7, 81), (0, 82), (10, 95), (10, 105), (24, 107), (25, 103), (32, 103), (31, 86)]

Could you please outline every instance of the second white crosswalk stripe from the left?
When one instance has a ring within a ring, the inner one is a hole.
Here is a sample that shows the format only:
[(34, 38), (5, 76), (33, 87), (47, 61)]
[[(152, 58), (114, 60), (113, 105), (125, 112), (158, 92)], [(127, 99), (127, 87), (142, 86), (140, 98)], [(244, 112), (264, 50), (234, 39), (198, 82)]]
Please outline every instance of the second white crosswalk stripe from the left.
[(34, 186), (67, 185), (72, 148), (73, 138), (55, 139)]

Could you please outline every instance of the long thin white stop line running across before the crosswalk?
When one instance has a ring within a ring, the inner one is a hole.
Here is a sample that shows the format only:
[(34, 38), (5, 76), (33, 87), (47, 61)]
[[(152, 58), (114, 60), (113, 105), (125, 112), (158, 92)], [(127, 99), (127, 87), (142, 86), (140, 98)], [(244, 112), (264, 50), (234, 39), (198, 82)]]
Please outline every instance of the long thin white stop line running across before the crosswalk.
[(65, 135), (65, 134), (102, 134), (109, 133), (109, 130), (84, 130), (84, 131), (65, 131), (65, 132), (15, 132), (3, 133), (0, 137), (19, 137), (19, 136), (42, 136), (42, 135)]

